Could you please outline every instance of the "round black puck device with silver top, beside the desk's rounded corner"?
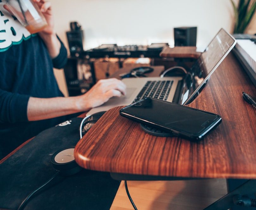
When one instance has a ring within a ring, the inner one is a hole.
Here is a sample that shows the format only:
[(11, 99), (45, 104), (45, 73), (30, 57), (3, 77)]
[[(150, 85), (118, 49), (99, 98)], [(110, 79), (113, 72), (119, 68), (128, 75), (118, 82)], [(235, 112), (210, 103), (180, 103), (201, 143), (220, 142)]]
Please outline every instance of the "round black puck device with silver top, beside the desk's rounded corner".
[(82, 170), (75, 161), (74, 150), (75, 147), (66, 147), (52, 155), (52, 165), (61, 176), (70, 176)]

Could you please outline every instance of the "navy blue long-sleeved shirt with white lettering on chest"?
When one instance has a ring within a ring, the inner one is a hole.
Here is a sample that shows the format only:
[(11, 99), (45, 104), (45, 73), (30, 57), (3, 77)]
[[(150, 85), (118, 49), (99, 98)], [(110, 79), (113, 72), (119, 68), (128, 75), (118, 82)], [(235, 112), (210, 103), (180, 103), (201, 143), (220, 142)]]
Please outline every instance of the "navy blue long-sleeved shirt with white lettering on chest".
[(63, 68), (67, 51), (51, 59), (39, 35), (31, 35), (0, 2), (0, 159), (40, 131), (65, 120), (28, 122), (29, 97), (63, 96), (53, 74)]

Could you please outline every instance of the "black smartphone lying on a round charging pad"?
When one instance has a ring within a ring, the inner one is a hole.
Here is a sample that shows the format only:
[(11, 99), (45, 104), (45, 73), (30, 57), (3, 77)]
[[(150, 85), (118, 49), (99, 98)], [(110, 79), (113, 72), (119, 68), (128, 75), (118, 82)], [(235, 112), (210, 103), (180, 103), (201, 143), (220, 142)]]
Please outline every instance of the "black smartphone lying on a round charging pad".
[(154, 98), (139, 100), (124, 107), (119, 113), (121, 116), (193, 140), (202, 139), (222, 120), (221, 116), (210, 112)]

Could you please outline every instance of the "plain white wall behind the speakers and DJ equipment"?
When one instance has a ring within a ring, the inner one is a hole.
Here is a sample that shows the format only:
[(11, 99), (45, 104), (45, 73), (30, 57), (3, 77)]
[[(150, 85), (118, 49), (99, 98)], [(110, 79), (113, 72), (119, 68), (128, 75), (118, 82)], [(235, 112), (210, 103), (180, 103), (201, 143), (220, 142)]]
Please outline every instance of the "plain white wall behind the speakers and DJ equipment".
[[(102, 43), (174, 45), (173, 28), (197, 26), (197, 46), (205, 47), (221, 28), (233, 30), (230, 0), (50, 0), (58, 35), (77, 21), (85, 31), (85, 49)], [(237, 2), (237, 0), (236, 0)], [(248, 32), (256, 33), (256, 15)]]

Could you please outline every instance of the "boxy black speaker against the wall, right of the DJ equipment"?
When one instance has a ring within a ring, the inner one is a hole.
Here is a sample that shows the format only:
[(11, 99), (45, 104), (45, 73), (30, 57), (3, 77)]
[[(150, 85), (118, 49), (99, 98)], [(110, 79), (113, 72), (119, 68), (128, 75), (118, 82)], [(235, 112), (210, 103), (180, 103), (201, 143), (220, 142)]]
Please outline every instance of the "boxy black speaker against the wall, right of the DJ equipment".
[(196, 46), (197, 27), (174, 28), (174, 46)]

